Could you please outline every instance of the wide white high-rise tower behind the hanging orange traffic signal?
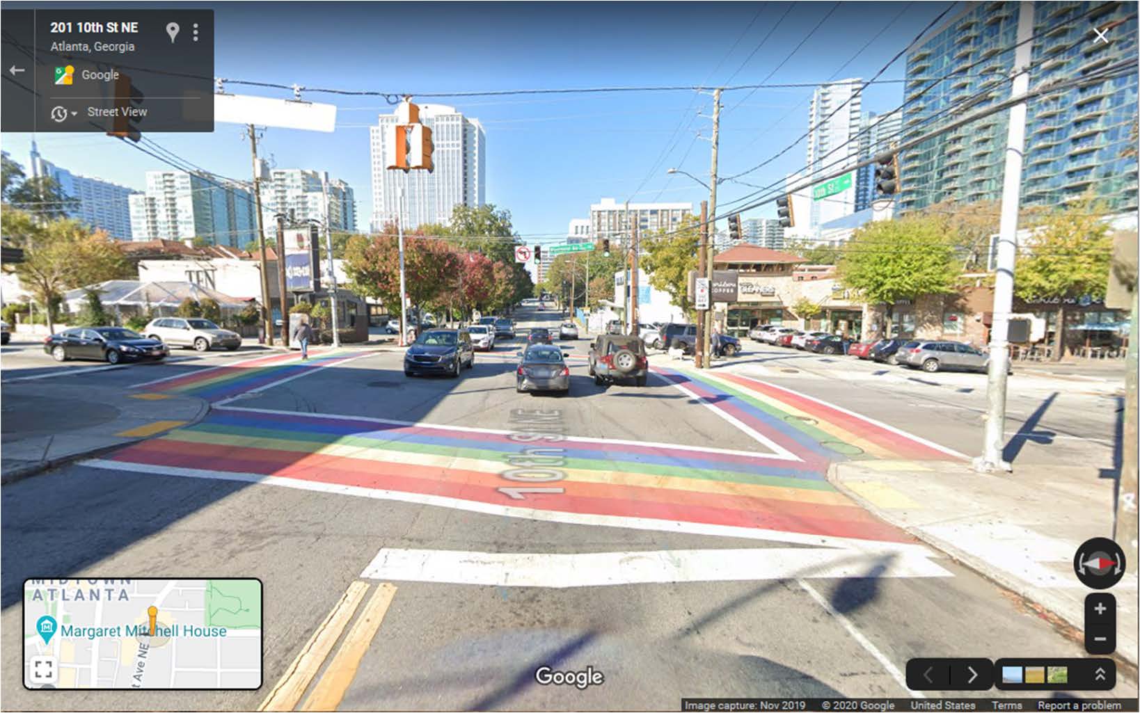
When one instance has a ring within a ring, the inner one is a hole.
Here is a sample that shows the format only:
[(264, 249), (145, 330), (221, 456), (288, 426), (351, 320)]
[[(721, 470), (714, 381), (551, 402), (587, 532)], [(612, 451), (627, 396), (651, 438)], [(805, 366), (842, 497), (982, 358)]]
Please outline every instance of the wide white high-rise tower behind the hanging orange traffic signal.
[[(451, 220), (457, 205), (479, 206), (487, 202), (487, 134), (478, 118), (467, 118), (441, 104), (420, 105), (420, 121), (432, 131), (434, 170), (389, 170), (396, 150), (389, 146), (396, 114), (382, 114), (372, 133), (372, 228), (380, 230), (402, 213), (404, 226)], [(400, 206), (400, 189), (404, 205)]]

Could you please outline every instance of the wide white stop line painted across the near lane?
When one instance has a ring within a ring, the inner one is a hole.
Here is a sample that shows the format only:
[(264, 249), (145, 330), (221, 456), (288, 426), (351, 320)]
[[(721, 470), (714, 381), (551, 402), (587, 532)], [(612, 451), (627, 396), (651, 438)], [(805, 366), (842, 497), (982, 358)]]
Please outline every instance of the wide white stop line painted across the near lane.
[[(383, 548), (360, 579), (498, 587), (604, 587), (864, 576), (882, 556), (842, 549), (755, 548), (576, 554)], [(890, 558), (881, 576), (951, 576), (923, 555)]]

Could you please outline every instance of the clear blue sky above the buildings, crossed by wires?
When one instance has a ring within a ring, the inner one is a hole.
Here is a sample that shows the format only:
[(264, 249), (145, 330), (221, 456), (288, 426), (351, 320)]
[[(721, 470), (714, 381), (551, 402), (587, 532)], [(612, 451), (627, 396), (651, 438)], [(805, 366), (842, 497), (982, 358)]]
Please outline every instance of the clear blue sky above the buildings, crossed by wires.
[[(789, 6), (782, 24), (760, 46)], [(833, 2), (215, 3), (215, 74), (414, 97), (440, 91), (749, 84), (776, 69), (833, 7)], [(945, 8), (944, 2), (839, 3), (767, 81), (870, 79)], [(903, 73), (901, 59), (883, 79), (902, 79)], [(754, 166), (804, 133), (811, 93), (808, 88), (725, 92), (720, 174)], [(888, 110), (902, 103), (902, 83), (872, 85), (863, 92), (863, 108)], [(261, 151), (277, 166), (327, 170), (349, 181), (357, 196), (358, 227), (365, 229), (372, 215), (367, 125), (391, 109), (380, 97), (310, 93), (306, 98), (336, 104), (337, 130), (326, 134), (269, 129)], [(453, 105), (483, 123), (487, 200), (508, 208), (515, 229), (531, 243), (557, 241), (568, 221), (587, 218), (591, 203), (603, 196), (619, 202), (692, 202), (694, 210), (707, 197), (691, 179), (669, 177), (666, 170), (677, 166), (707, 181), (710, 145), (695, 132), (710, 134), (710, 120), (697, 115), (710, 114), (709, 96), (676, 91), (431, 101)], [(217, 124), (212, 134), (148, 136), (215, 173), (249, 179), (249, 142), (242, 126)], [(30, 142), (30, 134), (0, 137), (0, 146), (25, 164)], [(138, 189), (145, 171), (165, 167), (101, 134), (44, 133), (38, 144), (44, 158), (57, 165)], [(801, 142), (741, 180), (768, 185), (804, 162)], [(754, 190), (725, 182), (718, 200), (723, 205)], [(768, 205), (746, 216), (773, 214)]]

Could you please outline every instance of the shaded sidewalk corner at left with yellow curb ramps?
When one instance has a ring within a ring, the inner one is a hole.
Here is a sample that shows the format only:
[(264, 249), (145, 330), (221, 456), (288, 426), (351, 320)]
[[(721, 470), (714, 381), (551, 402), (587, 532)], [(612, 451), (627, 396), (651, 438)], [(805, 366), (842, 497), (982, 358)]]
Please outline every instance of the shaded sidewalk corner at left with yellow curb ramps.
[(193, 396), (43, 382), (3, 388), (0, 483), (194, 424), (210, 404)]

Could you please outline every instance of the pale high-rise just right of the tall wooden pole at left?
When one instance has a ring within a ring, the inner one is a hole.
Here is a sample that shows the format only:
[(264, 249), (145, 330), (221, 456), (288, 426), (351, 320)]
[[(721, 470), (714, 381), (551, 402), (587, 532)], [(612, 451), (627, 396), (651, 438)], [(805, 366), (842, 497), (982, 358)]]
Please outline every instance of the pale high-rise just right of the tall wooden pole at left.
[[(325, 221), (324, 175), (302, 169), (262, 169), (261, 210), (266, 224), (278, 213), (293, 211), (298, 221)], [(356, 230), (356, 197), (352, 187), (337, 179), (328, 181), (329, 227), (334, 231)]]

